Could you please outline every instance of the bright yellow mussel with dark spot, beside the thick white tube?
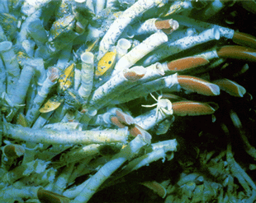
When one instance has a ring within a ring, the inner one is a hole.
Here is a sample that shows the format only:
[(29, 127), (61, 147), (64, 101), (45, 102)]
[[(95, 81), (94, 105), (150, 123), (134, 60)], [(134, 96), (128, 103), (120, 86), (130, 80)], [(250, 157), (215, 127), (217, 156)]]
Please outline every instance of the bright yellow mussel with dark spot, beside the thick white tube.
[(97, 63), (97, 70), (95, 76), (102, 76), (108, 69), (112, 68), (115, 64), (116, 49), (114, 52), (105, 53), (101, 60)]

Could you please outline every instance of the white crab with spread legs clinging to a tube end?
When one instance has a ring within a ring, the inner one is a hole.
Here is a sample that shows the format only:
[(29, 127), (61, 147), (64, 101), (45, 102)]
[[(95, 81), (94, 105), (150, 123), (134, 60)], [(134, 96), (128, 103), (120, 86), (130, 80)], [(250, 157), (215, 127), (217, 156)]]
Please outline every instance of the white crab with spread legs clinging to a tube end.
[(153, 99), (157, 102), (156, 104), (152, 105), (141, 105), (143, 107), (154, 107), (157, 106), (156, 112), (155, 112), (155, 118), (156, 120), (159, 118), (159, 113), (162, 113), (162, 115), (172, 115), (173, 114), (173, 105), (168, 99), (162, 99), (162, 95), (159, 95), (158, 99), (155, 99), (154, 95), (150, 93), (150, 95), (153, 97)]

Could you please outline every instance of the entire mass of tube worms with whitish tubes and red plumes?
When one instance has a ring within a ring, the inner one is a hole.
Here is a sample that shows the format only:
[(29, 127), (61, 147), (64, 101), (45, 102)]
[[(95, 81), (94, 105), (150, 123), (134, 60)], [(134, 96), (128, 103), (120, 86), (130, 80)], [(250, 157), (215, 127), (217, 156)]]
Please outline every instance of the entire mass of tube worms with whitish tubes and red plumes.
[[(183, 96), (248, 94), (230, 79), (212, 80), (210, 72), (225, 69), (230, 59), (245, 64), (235, 74), (246, 72), (247, 63), (256, 62), (256, 38), (208, 19), (235, 4), (255, 14), (250, 3), (2, 0), (0, 199), (88, 202), (138, 168), (159, 159), (172, 162), (183, 145), (159, 137), (170, 133), (175, 116), (218, 119), (216, 102)], [(256, 159), (232, 110), (230, 119), (244, 150)], [(166, 202), (254, 201), (256, 186), (232, 155), (229, 129), (225, 123), (220, 127), (227, 149), (211, 168), (217, 171), (226, 155), (230, 173), (218, 173), (222, 185), (198, 173), (183, 173), (173, 184), (140, 184), (162, 198), (168, 195)], [(207, 159), (212, 155), (198, 152)], [(231, 186), (234, 178), (244, 190), (238, 196)], [(211, 195), (204, 196), (210, 189), (201, 182), (214, 187)], [(175, 199), (178, 191), (189, 194)]]

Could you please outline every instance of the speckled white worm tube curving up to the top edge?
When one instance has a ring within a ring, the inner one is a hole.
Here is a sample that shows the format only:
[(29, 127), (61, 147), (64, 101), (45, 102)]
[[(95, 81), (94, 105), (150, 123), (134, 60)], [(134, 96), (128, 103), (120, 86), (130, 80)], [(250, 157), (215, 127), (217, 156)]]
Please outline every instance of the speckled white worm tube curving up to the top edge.
[(116, 40), (125, 30), (126, 26), (130, 24), (136, 17), (140, 16), (143, 12), (147, 11), (151, 7), (156, 7), (160, 3), (167, 2), (166, 0), (139, 0), (135, 2), (131, 7), (126, 9), (125, 12), (114, 21), (106, 35), (104, 35), (99, 48), (98, 58), (110, 50), (111, 46), (116, 43)]

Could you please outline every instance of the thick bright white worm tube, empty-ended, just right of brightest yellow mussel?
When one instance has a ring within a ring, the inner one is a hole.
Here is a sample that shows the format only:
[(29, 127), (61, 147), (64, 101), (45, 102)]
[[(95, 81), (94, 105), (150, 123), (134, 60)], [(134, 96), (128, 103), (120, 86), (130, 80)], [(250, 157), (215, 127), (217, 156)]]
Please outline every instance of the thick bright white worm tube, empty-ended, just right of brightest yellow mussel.
[(160, 44), (163, 44), (168, 41), (168, 36), (164, 32), (159, 31), (150, 35), (142, 43), (140, 43), (135, 48), (131, 49), (129, 53), (126, 53), (117, 63), (112, 76), (115, 75), (115, 72), (120, 72), (123, 69), (129, 68), (139, 61), (140, 58), (145, 57), (146, 54), (153, 51), (154, 48), (157, 48)]

